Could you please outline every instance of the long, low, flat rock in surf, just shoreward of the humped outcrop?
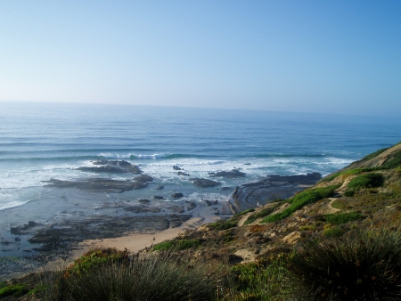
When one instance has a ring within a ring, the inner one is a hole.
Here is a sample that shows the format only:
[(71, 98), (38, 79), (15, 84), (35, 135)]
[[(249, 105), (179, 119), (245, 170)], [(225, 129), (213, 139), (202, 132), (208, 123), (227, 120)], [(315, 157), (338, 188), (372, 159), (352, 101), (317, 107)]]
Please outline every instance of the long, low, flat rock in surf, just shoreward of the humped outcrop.
[(63, 181), (52, 178), (49, 181), (43, 181), (43, 182), (47, 183), (45, 186), (48, 187), (78, 188), (92, 192), (119, 192), (119, 193), (124, 191), (131, 191), (133, 189), (143, 188), (148, 185), (148, 183), (143, 183), (143, 182), (120, 181), (107, 178), (88, 178), (88, 179), (78, 179), (74, 181)]

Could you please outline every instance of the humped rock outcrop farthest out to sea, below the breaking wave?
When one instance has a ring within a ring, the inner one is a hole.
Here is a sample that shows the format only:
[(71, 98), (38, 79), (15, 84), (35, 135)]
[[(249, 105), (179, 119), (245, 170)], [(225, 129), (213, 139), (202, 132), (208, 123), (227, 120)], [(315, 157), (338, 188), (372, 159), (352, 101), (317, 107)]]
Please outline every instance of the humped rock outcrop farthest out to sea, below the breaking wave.
[(113, 173), (113, 174), (131, 173), (134, 175), (140, 175), (143, 173), (141, 168), (125, 160), (95, 160), (91, 161), (91, 163), (95, 167), (78, 167), (76, 169), (94, 173)]

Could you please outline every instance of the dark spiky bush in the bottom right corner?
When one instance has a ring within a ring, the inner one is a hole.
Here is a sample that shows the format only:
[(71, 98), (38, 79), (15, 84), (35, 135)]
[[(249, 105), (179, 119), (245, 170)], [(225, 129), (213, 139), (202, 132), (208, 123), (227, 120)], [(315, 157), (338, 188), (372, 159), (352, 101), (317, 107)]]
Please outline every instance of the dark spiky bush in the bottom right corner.
[(293, 286), (308, 300), (401, 299), (401, 232), (354, 232), (308, 241), (289, 265)]

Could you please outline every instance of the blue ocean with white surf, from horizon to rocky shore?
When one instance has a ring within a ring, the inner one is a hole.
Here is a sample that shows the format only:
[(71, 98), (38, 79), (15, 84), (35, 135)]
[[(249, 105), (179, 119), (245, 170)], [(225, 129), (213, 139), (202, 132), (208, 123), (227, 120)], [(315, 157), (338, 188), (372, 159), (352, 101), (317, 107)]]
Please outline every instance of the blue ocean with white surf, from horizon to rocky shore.
[[(232, 191), (200, 190), (192, 177), (241, 168), (222, 179), (234, 188), (271, 174), (323, 175), (401, 140), (400, 118), (371, 118), (250, 110), (0, 102), (0, 231), (29, 220), (96, 214), (108, 200), (150, 199), (156, 185), (186, 199), (228, 199)], [(74, 170), (94, 159), (126, 159), (155, 181), (118, 194), (50, 189), (42, 181), (108, 176)], [(72, 207), (78, 206), (79, 210)]]

